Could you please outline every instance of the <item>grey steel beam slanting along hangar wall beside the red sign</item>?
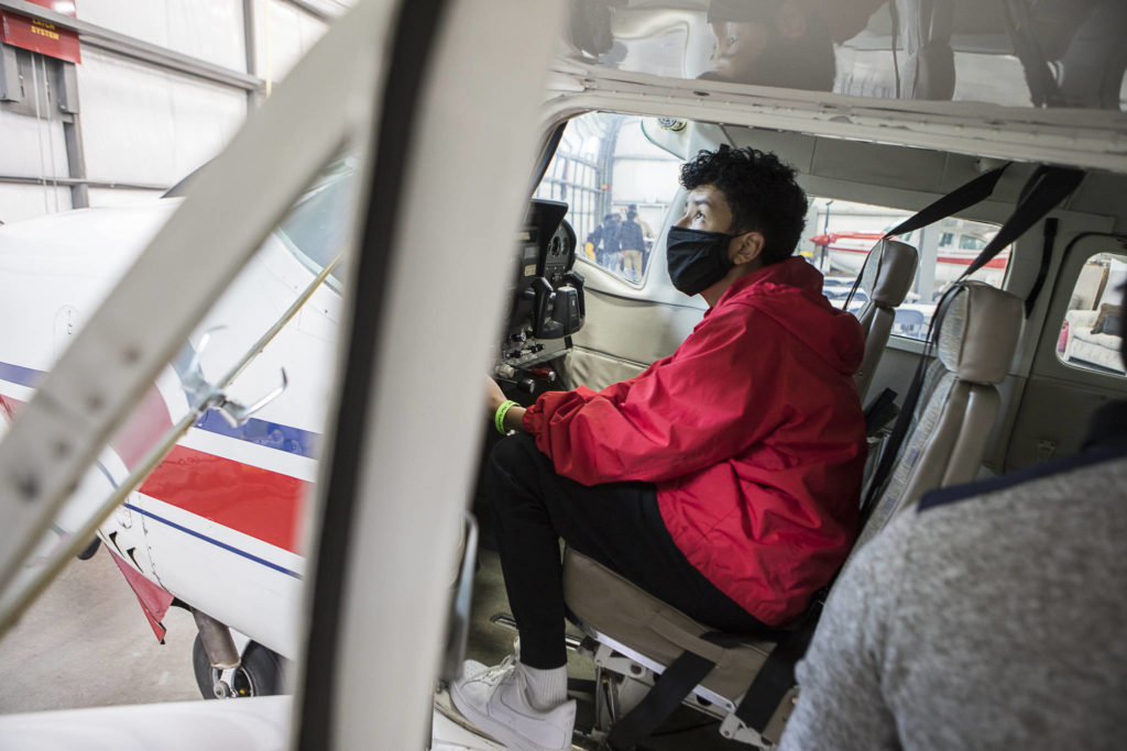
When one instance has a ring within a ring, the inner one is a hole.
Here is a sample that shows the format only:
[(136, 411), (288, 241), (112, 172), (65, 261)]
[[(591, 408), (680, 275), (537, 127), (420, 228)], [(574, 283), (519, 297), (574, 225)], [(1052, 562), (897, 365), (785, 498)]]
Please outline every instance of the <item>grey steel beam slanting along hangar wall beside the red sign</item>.
[[(290, 0), (291, 2), (293, 0)], [(255, 75), (248, 75), (241, 71), (215, 65), (198, 57), (184, 55), (171, 50), (159, 47), (141, 39), (135, 39), (124, 34), (118, 34), (110, 29), (88, 24), (78, 18), (72, 18), (64, 14), (48, 10), (36, 6), (27, 0), (0, 0), (0, 8), (10, 10), (28, 18), (54, 24), (63, 28), (78, 32), (79, 41), (97, 50), (105, 50), (114, 54), (124, 55), (134, 60), (140, 60), (160, 68), (185, 73), (194, 78), (204, 79), (214, 83), (221, 83), (243, 91), (261, 91), (264, 83)], [(319, 11), (323, 14), (323, 11)]]

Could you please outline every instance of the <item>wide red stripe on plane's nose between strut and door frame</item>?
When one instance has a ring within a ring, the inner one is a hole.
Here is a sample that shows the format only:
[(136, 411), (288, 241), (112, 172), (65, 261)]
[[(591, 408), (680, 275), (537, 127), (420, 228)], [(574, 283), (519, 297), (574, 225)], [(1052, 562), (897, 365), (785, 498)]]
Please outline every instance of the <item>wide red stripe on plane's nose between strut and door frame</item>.
[(141, 492), (189, 513), (298, 552), (302, 499), (310, 483), (176, 446)]

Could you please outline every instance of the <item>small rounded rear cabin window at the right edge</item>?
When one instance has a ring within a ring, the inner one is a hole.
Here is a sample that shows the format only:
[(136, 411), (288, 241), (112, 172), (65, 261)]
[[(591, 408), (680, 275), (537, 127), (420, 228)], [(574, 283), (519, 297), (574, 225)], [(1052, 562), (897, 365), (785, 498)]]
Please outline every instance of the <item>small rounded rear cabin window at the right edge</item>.
[(1088, 259), (1061, 322), (1057, 357), (1085, 370), (1127, 375), (1120, 355), (1127, 256), (1097, 253)]

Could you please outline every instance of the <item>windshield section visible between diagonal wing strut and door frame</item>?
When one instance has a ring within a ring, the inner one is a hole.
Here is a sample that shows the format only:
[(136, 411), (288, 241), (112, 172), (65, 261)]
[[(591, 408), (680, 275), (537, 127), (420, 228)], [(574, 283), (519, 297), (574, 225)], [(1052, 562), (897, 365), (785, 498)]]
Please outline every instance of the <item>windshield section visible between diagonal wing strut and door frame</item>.
[[(352, 230), (348, 217), (352, 216), (356, 193), (355, 177), (354, 158), (334, 162), (278, 224), (277, 234), (314, 272), (328, 266), (348, 240)], [(340, 265), (330, 274), (338, 289), (343, 276)]]

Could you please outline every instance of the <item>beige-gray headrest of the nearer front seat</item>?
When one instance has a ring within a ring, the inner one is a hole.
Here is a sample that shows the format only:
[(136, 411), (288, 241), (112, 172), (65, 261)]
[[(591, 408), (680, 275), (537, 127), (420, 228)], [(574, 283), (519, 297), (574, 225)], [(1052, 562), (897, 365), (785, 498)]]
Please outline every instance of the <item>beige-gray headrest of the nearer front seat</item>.
[(940, 361), (962, 381), (1002, 383), (1022, 318), (1021, 298), (982, 281), (962, 283), (940, 324)]

